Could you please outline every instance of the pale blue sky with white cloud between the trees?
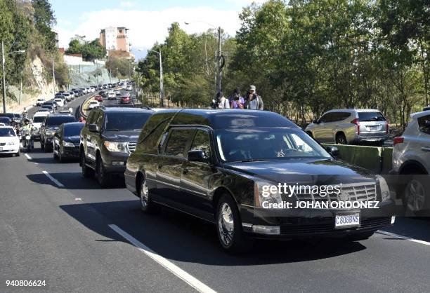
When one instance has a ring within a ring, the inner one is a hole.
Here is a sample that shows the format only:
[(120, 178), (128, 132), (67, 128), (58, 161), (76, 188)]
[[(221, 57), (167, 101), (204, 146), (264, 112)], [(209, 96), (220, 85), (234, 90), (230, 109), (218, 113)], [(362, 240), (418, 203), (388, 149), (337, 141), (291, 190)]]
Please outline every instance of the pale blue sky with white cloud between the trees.
[[(195, 33), (211, 28), (200, 22), (205, 21), (235, 35), (240, 27), (238, 15), (242, 7), (251, 3), (252, 0), (51, 0), (60, 46), (67, 47), (75, 34), (91, 40), (98, 37), (100, 29), (124, 26), (130, 29), (131, 48), (141, 55), (138, 57), (143, 57), (156, 41), (164, 41), (171, 22), (179, 22), (186, 32)], [(185, 21), (192, 23), (184, 25)]]

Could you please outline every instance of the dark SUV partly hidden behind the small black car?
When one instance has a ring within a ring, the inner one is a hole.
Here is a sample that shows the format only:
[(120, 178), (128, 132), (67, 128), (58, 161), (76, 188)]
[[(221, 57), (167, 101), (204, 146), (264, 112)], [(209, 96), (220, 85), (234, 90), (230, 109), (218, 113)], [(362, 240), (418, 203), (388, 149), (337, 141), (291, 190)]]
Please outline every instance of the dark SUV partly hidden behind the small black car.
[(40, 147), (44, 151), (51, 151), (53, 136), (63, 123), (76, 122), (76, 118), (70, 114), (51, 114), (46, 116), (40, 128)]

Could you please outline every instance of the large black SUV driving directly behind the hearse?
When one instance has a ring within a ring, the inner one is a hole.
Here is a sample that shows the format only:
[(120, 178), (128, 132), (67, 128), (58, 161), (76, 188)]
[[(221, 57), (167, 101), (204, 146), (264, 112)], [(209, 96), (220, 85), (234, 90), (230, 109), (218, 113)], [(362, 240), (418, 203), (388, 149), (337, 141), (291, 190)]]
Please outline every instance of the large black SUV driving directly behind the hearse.
[(82, 175), (93, 176), (100, 186), (110, 183), (111, 175), (124, 175), (125, 165), (148, 118), (149, 109), (105, 108), (91, 110), (80, 137)]

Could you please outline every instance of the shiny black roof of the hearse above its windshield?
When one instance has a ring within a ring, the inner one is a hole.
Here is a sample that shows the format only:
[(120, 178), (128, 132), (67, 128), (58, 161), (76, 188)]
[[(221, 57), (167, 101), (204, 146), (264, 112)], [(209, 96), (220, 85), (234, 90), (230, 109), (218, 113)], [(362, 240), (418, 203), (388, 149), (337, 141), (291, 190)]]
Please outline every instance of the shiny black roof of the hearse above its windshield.
[(289, 121), (289, 119), (271, 111), (168, 109), (157, 111), (157, 114), (174, 111), (177, 114), (171, 121), (171, 125), (207, 125), (214, 129), (252, 127), (299, 128), (299, 126)]

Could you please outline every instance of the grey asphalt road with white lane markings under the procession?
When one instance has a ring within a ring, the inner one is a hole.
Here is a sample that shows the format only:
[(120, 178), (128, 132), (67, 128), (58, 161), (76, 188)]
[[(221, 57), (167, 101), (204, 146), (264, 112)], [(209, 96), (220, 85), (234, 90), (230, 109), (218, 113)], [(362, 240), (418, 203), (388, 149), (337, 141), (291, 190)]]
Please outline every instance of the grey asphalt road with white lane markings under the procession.
[(100, 189), (38, 142), (28, 157), (0, 162), (0, 292), (430, 291), (429, 219), (398, 219), (358, 243), (261, 241), (233, 256), (214, 226), (168, 209), (142, 214), (121, 180)]

